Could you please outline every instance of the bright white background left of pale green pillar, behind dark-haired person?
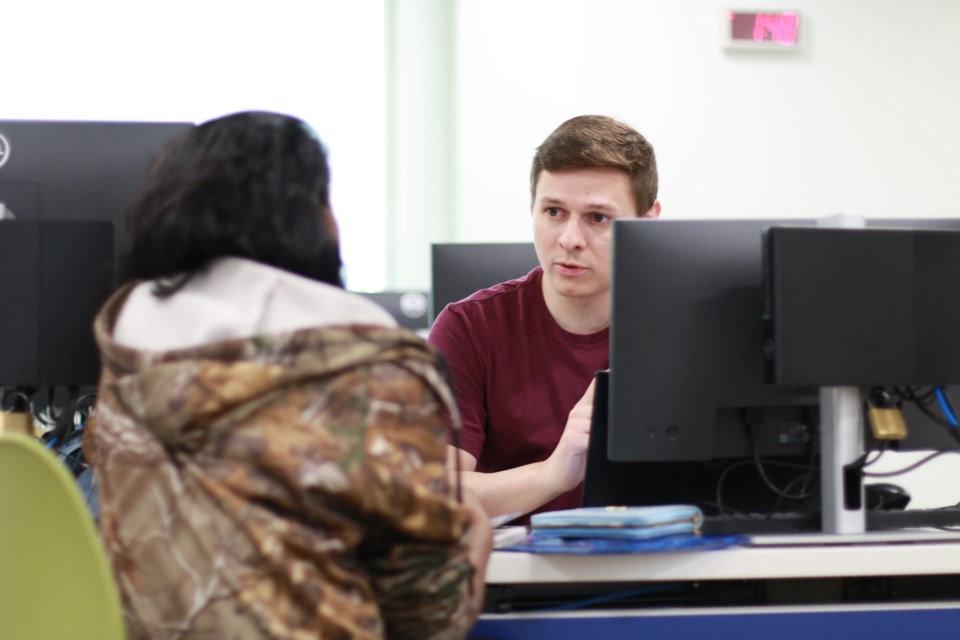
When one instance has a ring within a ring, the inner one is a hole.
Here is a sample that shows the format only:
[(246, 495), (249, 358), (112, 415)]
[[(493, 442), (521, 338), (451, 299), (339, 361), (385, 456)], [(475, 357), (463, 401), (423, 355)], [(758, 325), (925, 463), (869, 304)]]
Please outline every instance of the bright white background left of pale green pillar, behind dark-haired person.
[(383, 0), (11, 0), (0, 118), (298, 116), (330, 152), (351, 288), (386, 281)]

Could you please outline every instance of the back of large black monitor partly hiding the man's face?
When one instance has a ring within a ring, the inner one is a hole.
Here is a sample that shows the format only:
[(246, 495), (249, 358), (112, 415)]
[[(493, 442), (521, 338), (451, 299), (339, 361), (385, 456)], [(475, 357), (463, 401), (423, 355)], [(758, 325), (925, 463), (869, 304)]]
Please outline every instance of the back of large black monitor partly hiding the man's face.
[[(764, 380), (762, 232), (812, 220), (617, 221), (610, 328), (610, 457), (710, 460), (802, 453), (816, 387)], [(774, 415), (777, 414), (777, 417)], [(766, 425), (769, 428), (762, 428)]]

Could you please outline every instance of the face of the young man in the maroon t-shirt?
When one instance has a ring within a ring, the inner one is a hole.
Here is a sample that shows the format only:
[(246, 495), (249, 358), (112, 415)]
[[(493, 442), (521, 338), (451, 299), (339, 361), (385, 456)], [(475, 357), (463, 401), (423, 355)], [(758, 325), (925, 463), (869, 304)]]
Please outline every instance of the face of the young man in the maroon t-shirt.
[[(659, 205), (647, 215), (655, 217)], [(609, 304), (610, 242), (617, 218), (638, 216), (626, 171), (590, 167), (542, 171), (533, 200), (533, 242), (544, 296)]]

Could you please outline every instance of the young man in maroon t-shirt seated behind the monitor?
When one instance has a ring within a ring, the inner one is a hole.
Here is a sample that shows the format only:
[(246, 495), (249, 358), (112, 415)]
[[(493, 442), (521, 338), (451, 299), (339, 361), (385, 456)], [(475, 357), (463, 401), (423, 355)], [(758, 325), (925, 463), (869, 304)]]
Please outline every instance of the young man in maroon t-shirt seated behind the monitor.
[(579, 506), (593, 376), (609, 366), (617, 218), (656, 218), (650, 143), (605, 116), (561, 124), (530, 172), (540, 266), (448, 305), (429, 341), (447, 356), (465, 482), (491, 515)]

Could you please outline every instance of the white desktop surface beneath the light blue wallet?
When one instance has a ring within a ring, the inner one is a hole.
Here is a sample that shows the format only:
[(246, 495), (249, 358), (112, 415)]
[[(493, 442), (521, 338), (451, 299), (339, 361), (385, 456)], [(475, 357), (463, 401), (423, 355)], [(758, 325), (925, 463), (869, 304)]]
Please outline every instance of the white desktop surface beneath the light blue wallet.
[(495, 551), (487, 583), (670, 582), (788, 578), (960, 575), (960, 537), (918, 532), (897, 542), (733, 547), (630, 555)]

